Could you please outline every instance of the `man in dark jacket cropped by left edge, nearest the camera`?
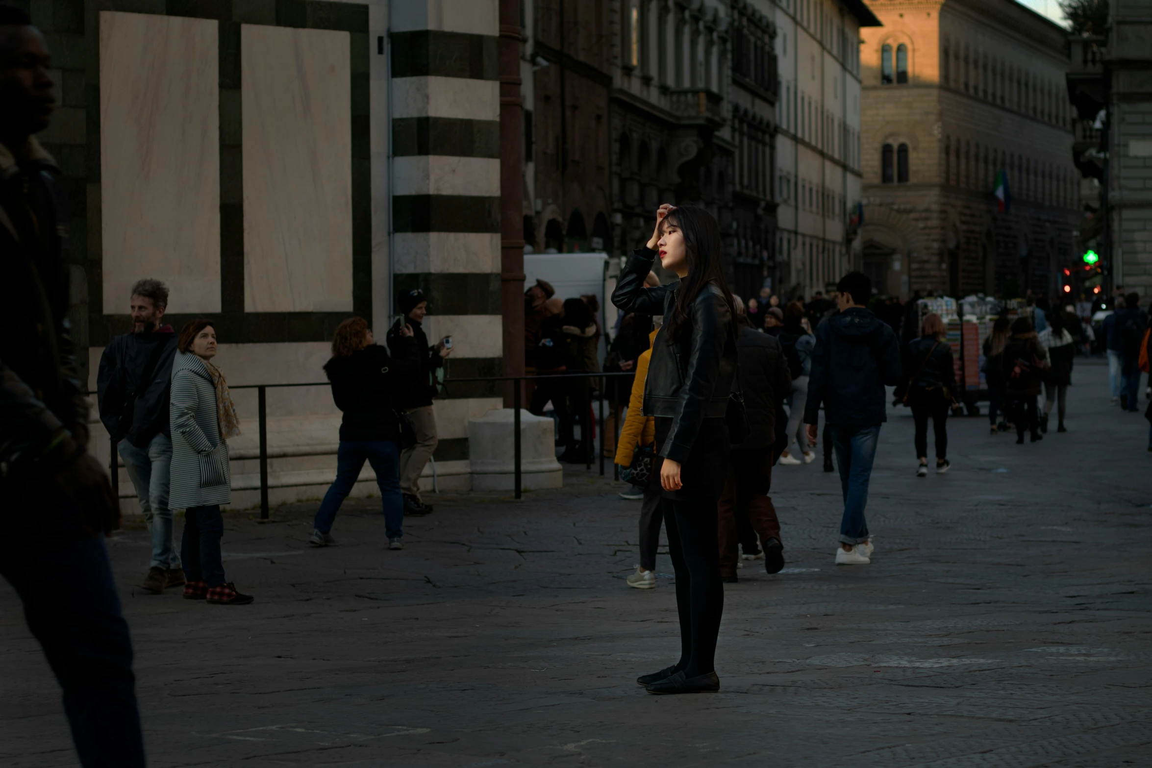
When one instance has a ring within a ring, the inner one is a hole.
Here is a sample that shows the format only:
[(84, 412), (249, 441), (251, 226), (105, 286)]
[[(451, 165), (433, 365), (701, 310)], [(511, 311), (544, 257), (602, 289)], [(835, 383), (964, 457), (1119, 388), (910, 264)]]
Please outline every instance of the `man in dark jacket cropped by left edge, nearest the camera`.
[(63, 689), (81, 763), (136, 768), (144, 744), (132, 647), (104, 548), (119, 508), (85, 449), (66, 198), (33, 138), (55, 106), (48, 67), (40, 31), (0, 5), (0, 573)]

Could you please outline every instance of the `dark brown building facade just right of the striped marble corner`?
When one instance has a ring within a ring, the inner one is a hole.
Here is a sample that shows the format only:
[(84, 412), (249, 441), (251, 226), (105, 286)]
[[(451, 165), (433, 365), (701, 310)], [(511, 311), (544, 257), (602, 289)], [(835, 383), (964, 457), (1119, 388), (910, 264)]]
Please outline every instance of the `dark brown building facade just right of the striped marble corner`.
[(524, 239), (537, 252), (611, 249), (608, 6), (524, 5), (532, 70), (525, 101), (532, 192), (524, 196)]

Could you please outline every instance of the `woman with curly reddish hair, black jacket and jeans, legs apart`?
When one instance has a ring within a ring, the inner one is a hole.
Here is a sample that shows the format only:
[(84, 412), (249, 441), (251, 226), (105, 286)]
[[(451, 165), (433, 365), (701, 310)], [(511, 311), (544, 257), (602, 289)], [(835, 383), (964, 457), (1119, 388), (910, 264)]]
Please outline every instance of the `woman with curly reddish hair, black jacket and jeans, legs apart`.
[(332, 400), (343, 411), (340, 424), (340, 448), (336, 451), (336, 479), (328, 488), (316, 512), (313, 547), (335, 543), (332, 524), (344, 499), (359, 479), (364, 462), (372, 465), (384, 505), (388, 549), (403, 549), (401, 541), (404, 501), (400, 492), (400, 415), (393, 394), (419, 366), (412, 329), (400, 329), (391, 357), (387, 348), (376, 343), (364, 318), (348, 318), (336, 327), (332, 339), (332, 359), (324, 372), (332, 382)]

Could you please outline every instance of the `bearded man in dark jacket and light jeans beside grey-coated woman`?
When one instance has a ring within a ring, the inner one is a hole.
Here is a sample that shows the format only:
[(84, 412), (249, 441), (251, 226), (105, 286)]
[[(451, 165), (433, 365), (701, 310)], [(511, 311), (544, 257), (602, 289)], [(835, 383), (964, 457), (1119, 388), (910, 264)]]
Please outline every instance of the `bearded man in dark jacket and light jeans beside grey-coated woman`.
[(176, 334), (172, 326), (160, 325), (167, 307), (168, 289), (162, 282), (136, 281), (129, 304), (132, 332), (116, 336), (104, 349), (97, 377), (100, 421), (124, 459), (144, 522), (152, 532), (152, 565), (141, 584), (152, 594), (184, 583), (180, 555), (172, 546), (168, 508), (168, 394)]

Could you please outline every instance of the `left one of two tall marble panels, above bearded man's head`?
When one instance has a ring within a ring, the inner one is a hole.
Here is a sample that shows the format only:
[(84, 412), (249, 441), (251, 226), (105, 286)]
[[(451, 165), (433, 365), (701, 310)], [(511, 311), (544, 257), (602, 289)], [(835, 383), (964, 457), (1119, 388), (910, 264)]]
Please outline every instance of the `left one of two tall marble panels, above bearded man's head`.
[(168, 311), (220, 311), (218, 23), (101, 10), (100, 219), (105, 312), (141, 277)]

